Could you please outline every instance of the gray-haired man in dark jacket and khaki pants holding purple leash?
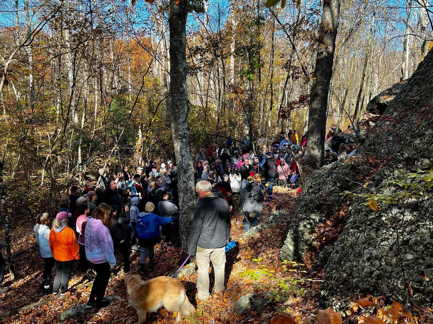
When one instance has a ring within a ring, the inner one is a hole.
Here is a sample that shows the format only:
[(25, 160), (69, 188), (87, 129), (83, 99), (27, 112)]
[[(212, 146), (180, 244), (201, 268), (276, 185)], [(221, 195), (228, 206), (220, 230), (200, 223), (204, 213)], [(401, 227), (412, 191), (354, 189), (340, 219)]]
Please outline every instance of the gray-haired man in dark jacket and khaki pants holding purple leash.
[(197, 260), (197, 298), (200, 300), (209, 299), (210, 261), (215, 273), (212, 295), (223, 295), (225, 249), (232, 228), (229, 204), (214, 196), (211, 189), (211, 184), (207, 181), (199, 181), (195, 186), (199, 201), (195, 206), (188, 242), (188, 253), (195, 255)]

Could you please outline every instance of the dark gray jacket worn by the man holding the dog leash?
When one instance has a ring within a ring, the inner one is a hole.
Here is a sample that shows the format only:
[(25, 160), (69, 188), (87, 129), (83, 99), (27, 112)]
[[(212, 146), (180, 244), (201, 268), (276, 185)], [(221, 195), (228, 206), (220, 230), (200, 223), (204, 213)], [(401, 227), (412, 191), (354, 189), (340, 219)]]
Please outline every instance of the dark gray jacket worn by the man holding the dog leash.
[(188, 253), (195, 255), (200, 248), (222, 248), (230, 239), (229, 204), (217, 196), (203, 197), (194, 210)]

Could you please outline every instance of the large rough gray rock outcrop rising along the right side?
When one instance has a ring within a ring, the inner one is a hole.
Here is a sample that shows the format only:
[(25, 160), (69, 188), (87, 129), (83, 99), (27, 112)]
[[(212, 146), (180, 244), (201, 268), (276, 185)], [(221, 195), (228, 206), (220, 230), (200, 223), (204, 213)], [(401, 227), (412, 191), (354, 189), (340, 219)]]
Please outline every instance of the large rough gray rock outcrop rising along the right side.
[[(398, 91), (366, 134), (355, 159), (336, 162), (307, 179), (296, 201), (296, 221), (288, 227), (281, 258), (301, 259), (314, 250), (313, 233), (329, 219), (332, 209), (341, 206), (343, 191), (392, 191), (397, 195), (410, 187), (389, 181), (432, 168), (432, 74), (430, 51), (412, 77), (392, 87)], [(372, 181), (366, 187), (365, 178)], [(364, 204), (365, 197), (354, 197), (343, 232), (334, 246), (323, 250), (326, 255), (318, 258), (325, 268), (319, 294), (323, 307), (343, 308), (338, 302), (355, 292), (383, 295), (402, 305), (410, 299), (420, 306), (432, 304), (432, 189), (426, 189), (421, 199), (381, 203), (377, 210)]]

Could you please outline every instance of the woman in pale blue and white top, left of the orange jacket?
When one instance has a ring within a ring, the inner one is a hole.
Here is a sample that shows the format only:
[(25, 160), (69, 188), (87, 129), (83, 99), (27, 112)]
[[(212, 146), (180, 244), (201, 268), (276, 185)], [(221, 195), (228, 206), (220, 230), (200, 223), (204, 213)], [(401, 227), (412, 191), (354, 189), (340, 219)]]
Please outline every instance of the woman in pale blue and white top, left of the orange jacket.
[(48, 295), (52, 292), (50, 289), (51, 273), (54, 265), (54, 256), (51, 252), (50, 245), (48, 243), (50, 239), (50, 216), (48, 213), (40, 213), (36, 216), (36, 225), (33, 227), (33, 231), (38, 240), (39, 251), (41, 251), (41, 257), (44, 259), (45, 267), (42, 273), (42, 286), (44, 288), (44, 295)]

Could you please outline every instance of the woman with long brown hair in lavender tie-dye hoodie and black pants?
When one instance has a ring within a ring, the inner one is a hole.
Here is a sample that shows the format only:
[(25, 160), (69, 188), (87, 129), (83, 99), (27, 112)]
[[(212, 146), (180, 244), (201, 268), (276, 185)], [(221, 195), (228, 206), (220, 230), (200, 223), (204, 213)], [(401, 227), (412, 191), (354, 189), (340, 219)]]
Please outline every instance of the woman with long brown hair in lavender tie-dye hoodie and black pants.
[(106, 203), (98, 205), (92, 216), (87, 217), (84, 233), (86, 257), (92, 264), (92, 270), (96, 273), (87, 308), (100, 308), (107, 305), (107, 302), (103, 302), (103, 298), (110, 273), (116, 265), (113, 239), (108, 229), (112, 223), (113, 210)]

